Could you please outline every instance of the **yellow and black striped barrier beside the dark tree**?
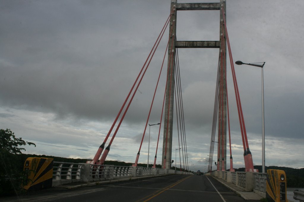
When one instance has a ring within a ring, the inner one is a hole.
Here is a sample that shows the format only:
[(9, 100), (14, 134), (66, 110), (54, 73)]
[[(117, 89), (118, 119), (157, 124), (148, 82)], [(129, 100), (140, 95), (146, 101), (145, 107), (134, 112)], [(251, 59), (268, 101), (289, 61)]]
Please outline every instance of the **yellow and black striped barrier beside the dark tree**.
[(52, 158), (27, 158), (23, 168), (28, 171), (27, 184), (23, 188), (40, 190), (52, 187), (53, 160)]

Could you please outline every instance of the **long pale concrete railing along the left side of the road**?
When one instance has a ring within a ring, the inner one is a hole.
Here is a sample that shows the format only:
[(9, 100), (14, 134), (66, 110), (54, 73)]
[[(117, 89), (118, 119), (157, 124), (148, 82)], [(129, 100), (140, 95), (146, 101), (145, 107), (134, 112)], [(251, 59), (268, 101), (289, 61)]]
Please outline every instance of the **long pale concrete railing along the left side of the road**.
[(119, 178), (132, 178), (138, 176), (156, 176), (167, 174), (192, 175), (192, 173), (188, 172), (163, 168), (54, 162), (53, 186), (72, 182), (94, 182)]

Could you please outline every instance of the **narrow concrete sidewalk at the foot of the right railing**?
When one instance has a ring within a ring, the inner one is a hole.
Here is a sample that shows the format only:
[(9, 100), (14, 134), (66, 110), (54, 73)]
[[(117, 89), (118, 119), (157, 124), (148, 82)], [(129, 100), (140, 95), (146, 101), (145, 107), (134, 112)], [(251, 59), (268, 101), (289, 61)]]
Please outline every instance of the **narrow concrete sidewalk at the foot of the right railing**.
[(219, 181), (221, 184), (223, 184), (225, 187), (227, 187), (228, 189), (232, 190), (233, 192), (237, 193), (238, 195), (240, 195), (243, 199), (245, 200), (260, 200), (261, 197), (260, 195), (258, 195), (255, 192), (250, 192), (250, 191), (244, 191), (241, 188), (237, 187), (235, 184), (230, 183), (230, 182), (226, 182), (223, 179), (219, 179), (217, 177), (212, 176), (214, 179), (216, 179), (217, 181)]

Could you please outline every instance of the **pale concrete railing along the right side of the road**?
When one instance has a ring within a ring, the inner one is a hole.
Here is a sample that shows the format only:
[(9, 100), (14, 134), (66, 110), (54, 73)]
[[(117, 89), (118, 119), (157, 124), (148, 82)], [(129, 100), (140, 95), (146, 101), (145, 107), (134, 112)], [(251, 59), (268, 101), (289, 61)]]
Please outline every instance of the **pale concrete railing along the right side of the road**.
[(267, 173), (212, 171), (210, 175), (233, 183), (244, 191), (254, 191), (265, 197)]

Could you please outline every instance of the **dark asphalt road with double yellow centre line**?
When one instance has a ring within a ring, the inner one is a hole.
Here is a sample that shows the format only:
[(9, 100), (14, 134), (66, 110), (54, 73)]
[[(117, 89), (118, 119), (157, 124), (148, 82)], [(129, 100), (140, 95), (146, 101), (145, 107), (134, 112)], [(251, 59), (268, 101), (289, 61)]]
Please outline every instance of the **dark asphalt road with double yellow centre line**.
[(73, 190), (51, 188), (0, 201), (64, 202), (258, 202), (244, 200), (210, 176), (169, 175)]

